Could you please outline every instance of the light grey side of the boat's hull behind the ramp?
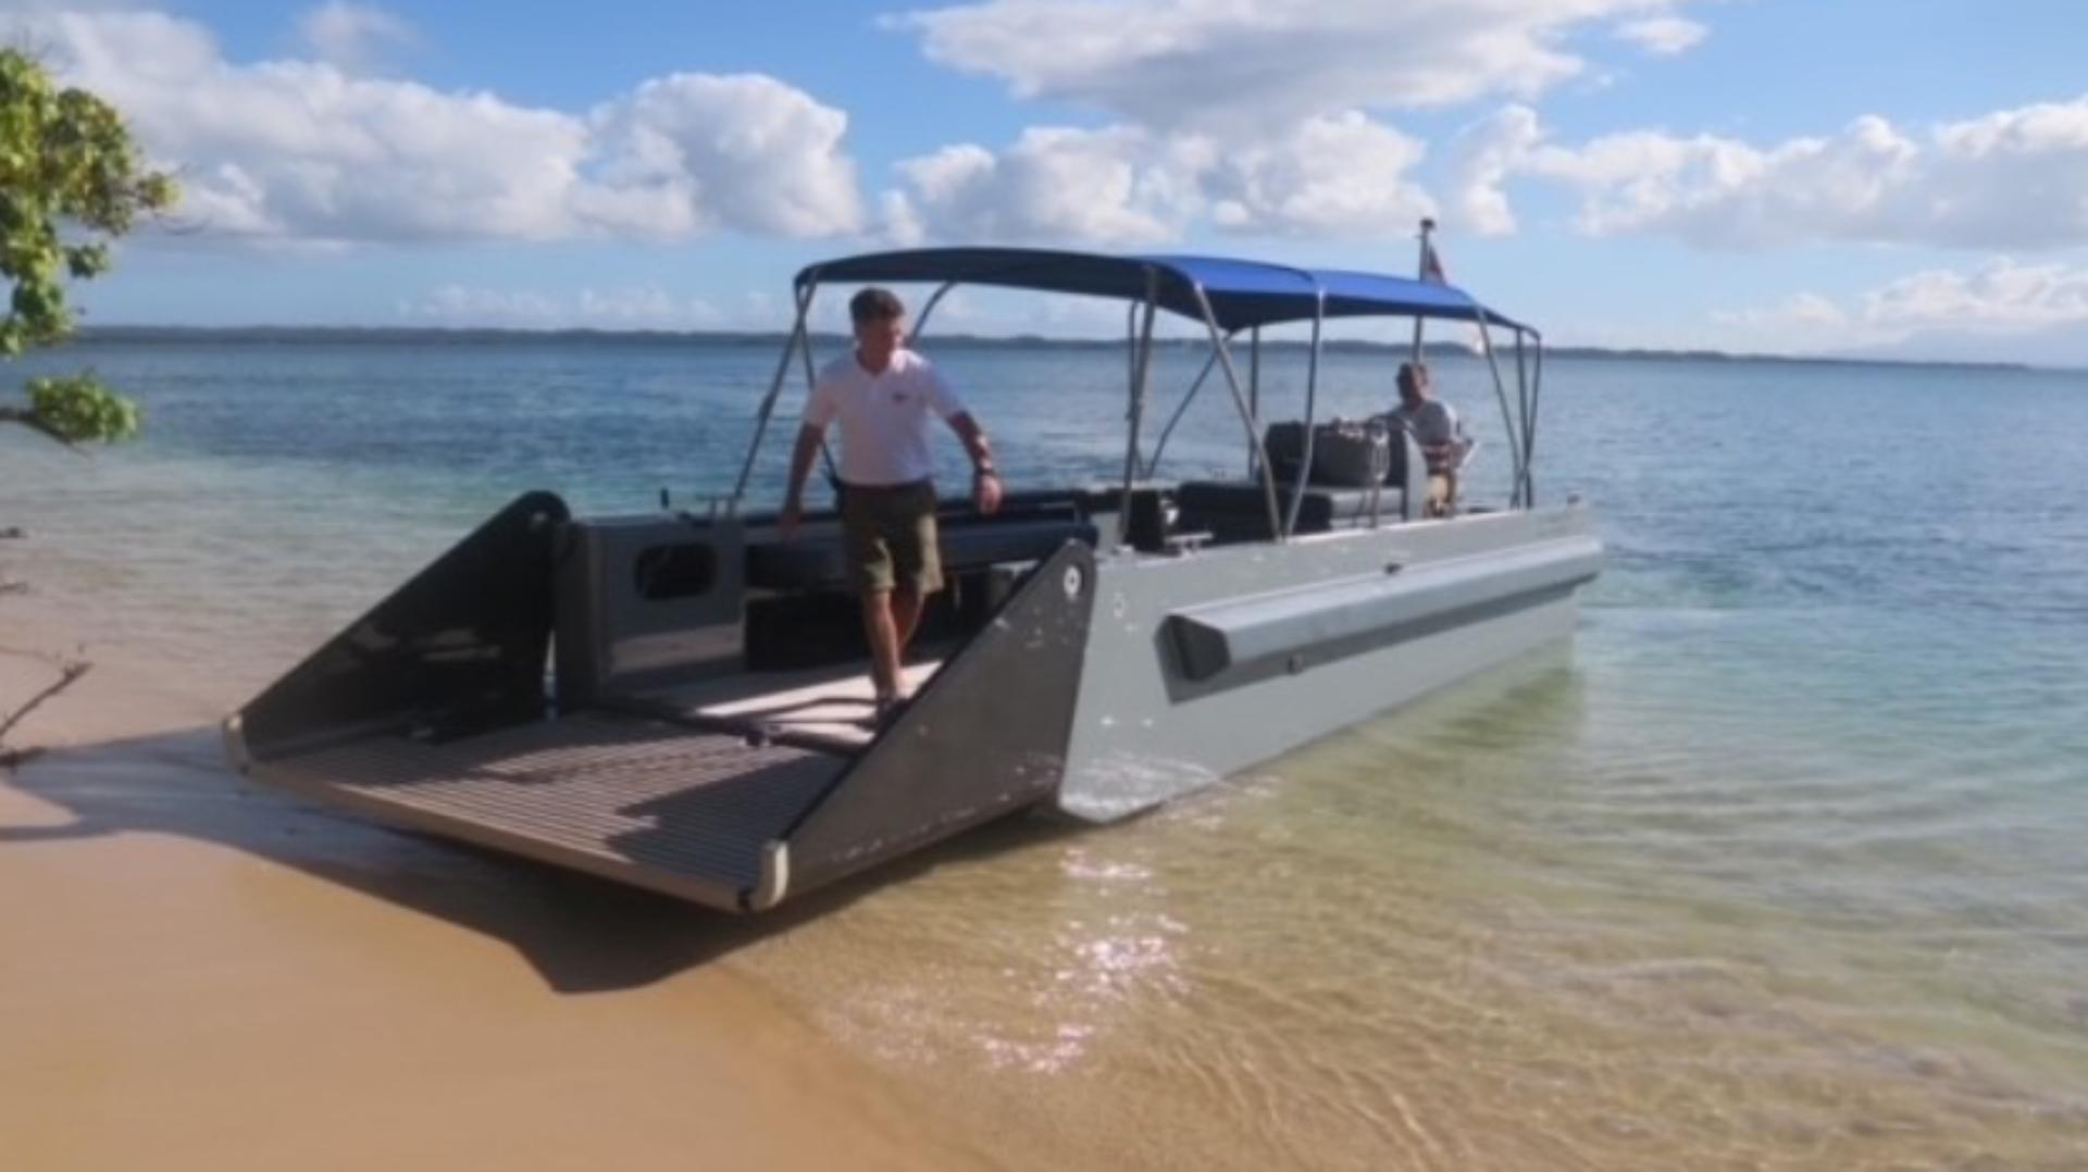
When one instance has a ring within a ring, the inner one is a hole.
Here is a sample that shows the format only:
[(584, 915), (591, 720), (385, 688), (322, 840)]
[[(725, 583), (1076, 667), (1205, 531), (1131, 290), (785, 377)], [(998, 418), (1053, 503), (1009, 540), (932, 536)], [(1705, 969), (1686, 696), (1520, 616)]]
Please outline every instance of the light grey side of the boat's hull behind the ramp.
[[(1566, 639), (1599, 556), (1589, 510), (1562, 506), (1102, 558), (1054, 806), (1084, 821), (1125, 817)], [(1549, 570), (1531, 572), (1533, 562)], [(1366, 589), (1386, 595), (1384, 623), (1313, 614), (1313, 595), (1355, 583), (1382, 583)], [(1297, 648), (1190, 679), (1169, 618), (1255, 600), (1295, 604)]]

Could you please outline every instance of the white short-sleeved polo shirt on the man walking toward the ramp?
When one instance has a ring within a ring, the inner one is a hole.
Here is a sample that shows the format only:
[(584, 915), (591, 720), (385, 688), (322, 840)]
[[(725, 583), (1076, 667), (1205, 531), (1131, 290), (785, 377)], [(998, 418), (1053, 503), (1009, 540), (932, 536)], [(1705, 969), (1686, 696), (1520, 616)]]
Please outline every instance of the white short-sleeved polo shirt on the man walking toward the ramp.
[(929, 412), (950, 420), (965, 403), (925, 357), (896, 349), (892, 364), (871, 374), (850, 351), (818, 372), (804, 422), (823, 428), (841, 420), (841, 480), (908, 485), (935, 472)]

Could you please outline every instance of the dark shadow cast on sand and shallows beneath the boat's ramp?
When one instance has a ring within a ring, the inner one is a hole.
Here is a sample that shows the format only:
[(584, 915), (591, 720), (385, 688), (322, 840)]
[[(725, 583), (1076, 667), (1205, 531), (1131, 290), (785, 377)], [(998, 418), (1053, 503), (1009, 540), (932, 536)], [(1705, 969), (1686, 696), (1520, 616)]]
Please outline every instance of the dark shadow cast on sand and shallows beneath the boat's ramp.
[(223, 765), (215, 727), (52, 750), (0, 773), (0, 786), (71, 815), (58, 825), (0, 825), (0, 850), (117, 834), (226, 846), (503, 940), (557, 992), (647, 986), (833, 915), (885, 884), (1079, 831), (1000, 819), (741, 917), (255, 786)]

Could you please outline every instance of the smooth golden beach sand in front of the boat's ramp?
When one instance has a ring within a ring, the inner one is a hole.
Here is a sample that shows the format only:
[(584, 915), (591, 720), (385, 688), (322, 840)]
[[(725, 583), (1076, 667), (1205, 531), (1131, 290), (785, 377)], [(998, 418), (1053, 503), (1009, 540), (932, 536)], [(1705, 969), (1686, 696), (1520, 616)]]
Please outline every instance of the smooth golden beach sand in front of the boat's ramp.
[[(0, 710), (71, 650), (0, 600)], [(8, 1168), (988, 1168), (712, 963), (750, 925), (244, 783), (236, 698), (90, 648), (0, 773)]]

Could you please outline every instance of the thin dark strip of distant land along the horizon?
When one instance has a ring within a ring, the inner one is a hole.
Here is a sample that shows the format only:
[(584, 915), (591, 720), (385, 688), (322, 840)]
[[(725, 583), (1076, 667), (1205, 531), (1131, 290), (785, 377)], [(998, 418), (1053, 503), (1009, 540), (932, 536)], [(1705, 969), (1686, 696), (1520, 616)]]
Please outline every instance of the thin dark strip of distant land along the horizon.
[[(90, 326), (81, 328), (73, 345), (211, 345), (211, 343), (261, 343), (261, 345), (487, 345), (487, 343), (560, 343), (560, 345), (725, 345), (762, 347), (781, 345), (781, 330), (509, 330), (509, 328), (438, 328), (438, 326)], [(841, 345), (841, 334), (814, 332), (818, 345)], [(1094, 351), (1117, 349), (1121, 338), (1046, 338), (1040, 334), (986, 336), (986, 334), (935, 334), (938, 347), (975, 349), (1067, 349)], [(1159, 338), (1163, 347), (1203, 347), (1203, 338)], [(1267, 349), (1303, 351), (1301, 341), (1270, 341)], [(1403, 353), (1401, 343), (1374, 343), (1363, 338), (1340, 338), (1326, 343), (1332, 353)], [(1428, 357), (1476, 357), (1460, 343), (1428, 343), (1422, 347)], [(1514, 357), (1512, 347), (1499, 347), (1503, 359)], [(1670, 351), (1650, 347), (1545, 347), (1549, 359), (1608, 359), (1608, 361), (1729, 361), (1729, 364), (1773, 364), (1773, 366), (1883, 366), (1883, 368), (1942, 368), (1942, 370), (2040, 370), (2027, 361), (1931, 361), (1892, 359), (1854, 355), (1775, 355), (1775, 353), (1727, 353), (1727, 351)]]

